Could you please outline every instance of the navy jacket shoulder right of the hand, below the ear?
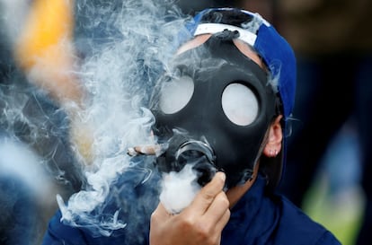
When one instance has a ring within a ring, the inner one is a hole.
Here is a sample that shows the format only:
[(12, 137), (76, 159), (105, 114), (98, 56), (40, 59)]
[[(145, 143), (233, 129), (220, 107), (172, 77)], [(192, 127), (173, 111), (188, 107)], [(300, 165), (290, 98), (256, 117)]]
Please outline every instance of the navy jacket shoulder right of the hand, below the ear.
[(233, 207), (221, 244), (341, 245), (331, 232), (314, 223), (285, 197), (262, 196), (265, 183), (266, 179), (259, 177)]

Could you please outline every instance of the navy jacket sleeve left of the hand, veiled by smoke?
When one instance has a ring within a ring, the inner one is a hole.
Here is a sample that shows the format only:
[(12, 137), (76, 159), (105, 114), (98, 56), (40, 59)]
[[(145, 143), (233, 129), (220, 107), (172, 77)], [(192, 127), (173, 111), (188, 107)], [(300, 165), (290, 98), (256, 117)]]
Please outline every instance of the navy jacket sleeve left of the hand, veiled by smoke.
[[(74, 213), (72, 219), (62, 221), (58, 210), (43, 244), (148, 244), (150, 215), (159, 202), (160, 189), (160, 173), (152, 162), (150, 157), (133, 158), (132, 166), (111, 184), (111, 195), (93, 212)], [(126, 224), (124, 229), (110, 225), (115, 212), (117, 221)]]

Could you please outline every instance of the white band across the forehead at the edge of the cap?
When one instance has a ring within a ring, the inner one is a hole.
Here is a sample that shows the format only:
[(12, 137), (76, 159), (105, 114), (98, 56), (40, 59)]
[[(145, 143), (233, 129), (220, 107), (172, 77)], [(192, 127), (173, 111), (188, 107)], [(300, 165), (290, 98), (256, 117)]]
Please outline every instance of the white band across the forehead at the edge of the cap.
[(244, 30), (243, 28), (234, 25), (221, 23), (202, 23), (198, 25), (194, 33), (194, 36), (198, 36), (201, 34), (215, 34), (217, 32), (225, 31), (226, 29), (228, 31), (239, 31), (240, 36), (238, 39), (243, 40), (252, 47), (254, 46), (254, 42), (257, 39), (257, 35), (253, 34), (251, 31)]

